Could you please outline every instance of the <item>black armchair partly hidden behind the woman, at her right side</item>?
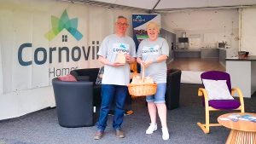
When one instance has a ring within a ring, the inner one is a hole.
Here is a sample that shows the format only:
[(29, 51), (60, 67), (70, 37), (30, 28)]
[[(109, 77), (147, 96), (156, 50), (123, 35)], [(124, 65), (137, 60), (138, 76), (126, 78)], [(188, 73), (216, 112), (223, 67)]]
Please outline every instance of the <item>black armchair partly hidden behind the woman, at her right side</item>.
[(179, 107), (181, 70), (170, 69), (167, 71), (166, 107), (168, 110)]

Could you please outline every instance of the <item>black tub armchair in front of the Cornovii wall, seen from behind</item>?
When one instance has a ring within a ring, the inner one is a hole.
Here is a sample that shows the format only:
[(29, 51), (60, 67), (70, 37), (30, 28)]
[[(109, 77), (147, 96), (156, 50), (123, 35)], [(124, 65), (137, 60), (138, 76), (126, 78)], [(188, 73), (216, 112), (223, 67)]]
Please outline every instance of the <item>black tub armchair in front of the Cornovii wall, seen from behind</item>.
[(93, 125), (92, 82), (52, 79), (59, 124), (63, 127)]

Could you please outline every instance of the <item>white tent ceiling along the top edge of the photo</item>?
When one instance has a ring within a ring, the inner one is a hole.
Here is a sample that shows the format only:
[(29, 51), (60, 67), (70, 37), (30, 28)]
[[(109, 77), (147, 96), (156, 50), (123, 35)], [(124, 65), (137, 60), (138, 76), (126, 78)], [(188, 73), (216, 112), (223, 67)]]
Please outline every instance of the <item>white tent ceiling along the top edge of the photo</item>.
[[(79, 3), (107, 4), (111, 7), (127, 7), (137, 9), (175, 10), (175, 9), (201, 9), (201, 8), (238, 8), (241, 6), (256, 5), (256, 0), (64, 0)], [(119, 7), (119, 8), (120, 8)], [(155, 7), (155, 8), (154, 8)]]

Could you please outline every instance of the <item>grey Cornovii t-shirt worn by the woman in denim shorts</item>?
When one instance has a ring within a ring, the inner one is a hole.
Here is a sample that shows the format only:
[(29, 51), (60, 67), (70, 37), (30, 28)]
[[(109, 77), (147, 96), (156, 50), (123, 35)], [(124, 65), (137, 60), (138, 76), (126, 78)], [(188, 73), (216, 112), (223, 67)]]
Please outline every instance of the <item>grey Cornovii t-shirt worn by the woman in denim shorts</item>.
[[(166, 39), (158, 37), (155, 41), (144, 39), (137, 50), (137, 57), (142, 60), (156, 60), (160, 55), (169, 55), (169, 46)], [(166, 83), (166, 60), (154, 62), (145, 68), (145, 76), (154, 79), (157, 84)]]

